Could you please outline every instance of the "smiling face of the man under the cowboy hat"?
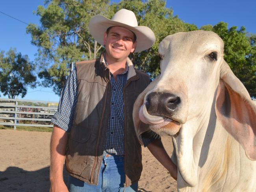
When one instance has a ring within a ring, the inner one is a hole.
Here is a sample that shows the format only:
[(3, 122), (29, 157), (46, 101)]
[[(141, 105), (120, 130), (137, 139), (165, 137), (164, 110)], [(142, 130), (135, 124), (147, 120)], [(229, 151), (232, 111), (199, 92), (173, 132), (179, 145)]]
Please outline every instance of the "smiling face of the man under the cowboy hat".
[(127, 59), (136, 48), (136, 41), (132, 31), (123, 27), (111, 27), (108, 34), (104, 33), (106, 57), (109, 62), (118, 62)]

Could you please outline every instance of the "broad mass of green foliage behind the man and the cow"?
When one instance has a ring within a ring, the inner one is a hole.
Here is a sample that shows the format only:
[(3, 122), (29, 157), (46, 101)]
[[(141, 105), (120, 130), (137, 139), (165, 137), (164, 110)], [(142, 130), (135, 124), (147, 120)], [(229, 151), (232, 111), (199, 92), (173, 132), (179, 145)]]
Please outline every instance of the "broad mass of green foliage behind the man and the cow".
[[(138, 24), (148, 26), (156, 35), (152, 48), (130, 55), (136, 68), (155, 78), (160, 73), (158, 44), (163, 38), (176, 32), (198, 29), (174, 16), (173, 9), (165, 5), (165, 0), (121, 0), (117, 4), (110, 4), (109, 0), (47, 0), (47, 7), (39, 6), (36, 11), (41, 26), (30, 24), (27, 27), (32, 44), (38, 47), (37, 63), (42, 85), (52, 86), (59, 95), (70, 64), (96, 58), (103, 50), (89, 33), (90, 18), (98, 14), (111, 18), (122, 8), (134, 11)], [(202, 26), (201, 30), (219, 34), (225, 44), (224, 59), (251, 96), (256, 96), (255, 35), (247, 35), (245, 28), (237, 30), (234, 26), (228, 29), (224, 22)]]

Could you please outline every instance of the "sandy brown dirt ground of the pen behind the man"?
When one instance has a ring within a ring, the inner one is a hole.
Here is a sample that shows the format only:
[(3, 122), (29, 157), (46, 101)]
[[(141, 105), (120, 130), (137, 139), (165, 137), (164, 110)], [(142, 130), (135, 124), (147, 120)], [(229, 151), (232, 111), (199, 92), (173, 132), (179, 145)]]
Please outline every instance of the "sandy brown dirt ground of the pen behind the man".
[[(50, 187), (50, 132), (0, 130), (0, 191), (47, 192)], [(171, 138), (162, 138), (171, 155)], [(140, 192), (176, 192), (176, 181), (142, 148)], [(67, 181), (67, 173), (64, 171)]]

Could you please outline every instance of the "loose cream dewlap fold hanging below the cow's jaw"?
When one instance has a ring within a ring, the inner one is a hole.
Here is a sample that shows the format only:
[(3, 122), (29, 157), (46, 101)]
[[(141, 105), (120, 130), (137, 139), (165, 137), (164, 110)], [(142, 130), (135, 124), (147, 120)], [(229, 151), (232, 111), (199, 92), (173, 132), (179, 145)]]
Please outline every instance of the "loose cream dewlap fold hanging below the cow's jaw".
[(178, 137), (174, 139), (178, 170), (181, 176), (178, 177), (177, 181), (180, 185), (179, 188), (197, 186), (198, 169), (200, 169), (198, 167), (199, 159), (201, 158), (200, 163), (202, 163), (202, 153), (206, 152), (202, 151), (202, 146), (209, 146), (208, 143), (214, 134), (216, 122), (214, 104), (209, 101), (207, 105), (204, 105), (204, 108), (202, 109), (203, 114), (191, 118), (182, 125)]

